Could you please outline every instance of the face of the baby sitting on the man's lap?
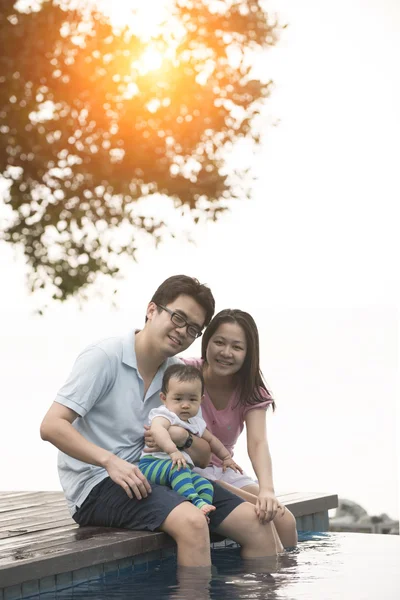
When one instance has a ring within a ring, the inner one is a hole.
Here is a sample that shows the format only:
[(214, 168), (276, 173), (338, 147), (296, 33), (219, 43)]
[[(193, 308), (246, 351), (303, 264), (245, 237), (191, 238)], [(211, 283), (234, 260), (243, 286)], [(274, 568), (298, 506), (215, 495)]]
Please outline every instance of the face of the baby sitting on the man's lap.
[(198, 379), (179, 381), (176, 377), (171, 377), (165, 399), (162, 398), (168, 410), (182, 421), (188, 421), (190, 417), (197, 415), (201, 399), (201, 382)]

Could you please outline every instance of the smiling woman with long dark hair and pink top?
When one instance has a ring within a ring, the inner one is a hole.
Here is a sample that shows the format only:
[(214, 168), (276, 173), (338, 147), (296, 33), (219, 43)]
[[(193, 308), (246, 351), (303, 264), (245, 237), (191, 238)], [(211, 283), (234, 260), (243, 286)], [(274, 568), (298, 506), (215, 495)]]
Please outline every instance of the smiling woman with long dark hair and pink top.
[(196, 471), (255, 504), (261, 521), (273, 521), (283, 546), (296, 546), (296, 520), (274, 492), (265, 417), (275, 402), (263, 381), (254, 319), (241, 310), (219, 312), (203, 334), (201, 359), (184, 361), (202, 370), (203, 418), (231, 453), (246, 423), (247, 450), (258, 482), (231, 469), (224, 473), (214, 455), (206, 469)]

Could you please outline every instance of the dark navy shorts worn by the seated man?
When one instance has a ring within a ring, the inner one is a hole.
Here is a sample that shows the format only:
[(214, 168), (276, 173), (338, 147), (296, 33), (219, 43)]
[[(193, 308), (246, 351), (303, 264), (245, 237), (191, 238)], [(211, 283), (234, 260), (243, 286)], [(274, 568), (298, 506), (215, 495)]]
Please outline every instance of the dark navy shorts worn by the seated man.
[[(211, 484), (216, 510), (209, 517), (210, 530), (214, 531), (243, 500), (214, 481)], [(92, 489), (73, 518), (79, 525), (155, 531), (178, 504), (187, 500), (163, 485), (152, 483), (151, 489), (147, 498), (131, 499), (121, 486), (107, 477)]]

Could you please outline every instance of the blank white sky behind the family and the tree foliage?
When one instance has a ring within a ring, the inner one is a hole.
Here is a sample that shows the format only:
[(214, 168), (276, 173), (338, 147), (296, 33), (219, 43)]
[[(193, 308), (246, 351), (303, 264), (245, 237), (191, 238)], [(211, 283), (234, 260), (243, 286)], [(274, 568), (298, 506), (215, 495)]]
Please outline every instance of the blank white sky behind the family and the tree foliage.
[[(118, 283), (118, 310), (105, 296), (32, 316), (22, 262), (0, 246), (1, 489), (59, 487), (38, 427), (76, 354), (140, 326), (157, 285), (184, 272), (211, 286), (217, 310), (258, 323), (278, 404), (277, 490), (336, 492), (398, 518), (400, 4), (269, 6), (289, 27), (258, 65), (275, 81), (263, 151), (236, 156), (259, 174), (251, 201), (199, 228), (196, 246), (143, 246)], [(246, 464), (244, 440), (237, 456)]]

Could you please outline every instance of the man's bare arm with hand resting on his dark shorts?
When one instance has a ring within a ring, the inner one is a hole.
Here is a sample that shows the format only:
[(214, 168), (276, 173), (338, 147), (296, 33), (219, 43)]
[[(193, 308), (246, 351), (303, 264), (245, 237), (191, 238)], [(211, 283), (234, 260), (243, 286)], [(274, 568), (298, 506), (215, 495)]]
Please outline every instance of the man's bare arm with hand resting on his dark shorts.
[(72, 458), (103, 467), (130, 498), (133, 498), (133, 494), (138, 500), (146, 498), (151, 487), (138, 467), (86, 440), (72, 427), (78, 417), (75, 411), (53, 402), (40, 426), (42, 440), (50, 442)]

